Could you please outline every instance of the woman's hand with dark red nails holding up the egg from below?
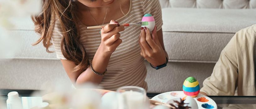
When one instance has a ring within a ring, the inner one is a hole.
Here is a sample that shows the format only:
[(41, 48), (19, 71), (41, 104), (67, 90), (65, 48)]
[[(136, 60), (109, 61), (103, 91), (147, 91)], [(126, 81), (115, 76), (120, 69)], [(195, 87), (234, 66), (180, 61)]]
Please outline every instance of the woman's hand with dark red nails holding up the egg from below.
[(141, 27), (139, 44), (141, 47), (141, 56), (150, 64), (158, 66), (166, 63), (165, 52), (157, 37), (157, 26), (152, 31), (152, 38), (147, 27)]

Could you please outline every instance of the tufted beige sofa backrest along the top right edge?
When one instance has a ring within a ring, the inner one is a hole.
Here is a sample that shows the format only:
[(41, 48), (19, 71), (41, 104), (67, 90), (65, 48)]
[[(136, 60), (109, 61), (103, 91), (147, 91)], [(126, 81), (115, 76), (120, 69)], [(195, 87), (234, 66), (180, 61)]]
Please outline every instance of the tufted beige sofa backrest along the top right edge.
[(162, 8), (223, 8), (223, 9), (255, 9), (256, 0), (159, 0)]

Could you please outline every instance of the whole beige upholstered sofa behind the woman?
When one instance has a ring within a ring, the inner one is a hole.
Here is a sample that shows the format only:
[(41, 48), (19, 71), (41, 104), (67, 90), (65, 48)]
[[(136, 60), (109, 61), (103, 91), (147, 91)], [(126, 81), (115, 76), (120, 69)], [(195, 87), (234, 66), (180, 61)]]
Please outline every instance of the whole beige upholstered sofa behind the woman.
[[(184, 80), (200, 82), (211, 75), (221, 50), (235, 32), (256, 23), (256, 0), (160, 0), (163, 38), (168, 66), (155, 70), (147, 65), (148, 92), (182, 90)], [(221, 8), (221, 9), (219, 9)], [(55, 53), (48, 54), (30, 18), (19, 22), (12, 36), (21, 37), (13, 58), (0, 61), (1, 89), (45, 89), (56, 80), (70, 83)]]

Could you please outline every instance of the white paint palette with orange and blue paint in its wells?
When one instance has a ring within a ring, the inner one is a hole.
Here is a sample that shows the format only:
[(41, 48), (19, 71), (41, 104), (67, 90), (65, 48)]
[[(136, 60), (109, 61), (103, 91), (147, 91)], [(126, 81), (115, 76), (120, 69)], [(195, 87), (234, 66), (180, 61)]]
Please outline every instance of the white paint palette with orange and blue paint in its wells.
[[(173, 101), (180, 101), (179, 98), (184, 98), (186, 95), (183, 91), (173, 91), (161, 93), (152, 98), (152, 100), (157, 100), (163, 103), (173, 103)], [(217, 109), (217, 104), (210, 98), (205, 95), (199, 94), (197, 97), (194, 97), (198, 109)]]

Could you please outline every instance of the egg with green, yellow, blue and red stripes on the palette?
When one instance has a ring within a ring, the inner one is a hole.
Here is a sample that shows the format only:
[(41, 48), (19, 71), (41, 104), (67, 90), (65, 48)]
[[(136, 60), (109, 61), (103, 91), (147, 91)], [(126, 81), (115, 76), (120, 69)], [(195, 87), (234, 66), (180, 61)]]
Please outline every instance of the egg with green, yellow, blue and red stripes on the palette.
[(187, 96), (197, 97), (200, 92), (199, 82), (194, 77), (187, 78), (183, 83), (183, 92)]

